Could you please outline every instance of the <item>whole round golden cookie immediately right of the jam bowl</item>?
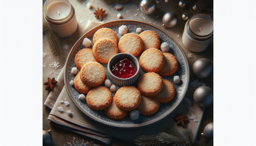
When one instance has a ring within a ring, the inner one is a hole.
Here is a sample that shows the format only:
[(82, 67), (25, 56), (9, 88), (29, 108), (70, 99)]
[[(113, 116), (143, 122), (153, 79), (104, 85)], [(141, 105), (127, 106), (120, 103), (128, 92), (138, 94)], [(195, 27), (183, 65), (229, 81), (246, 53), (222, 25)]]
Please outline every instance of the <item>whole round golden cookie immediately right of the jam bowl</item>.
[(158, 49), (148, 49), (141, 54), (139, 62), (144, 72), (157, 73), (164, 68), (165, 57)]

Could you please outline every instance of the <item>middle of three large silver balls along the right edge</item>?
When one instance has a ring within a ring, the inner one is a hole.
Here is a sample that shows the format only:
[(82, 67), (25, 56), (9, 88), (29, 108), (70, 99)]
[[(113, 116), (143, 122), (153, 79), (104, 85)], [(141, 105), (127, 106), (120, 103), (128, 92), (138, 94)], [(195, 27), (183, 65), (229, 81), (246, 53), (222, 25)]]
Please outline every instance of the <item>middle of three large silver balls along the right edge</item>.
[(193, 95), (195, 103), (200, 107), (208, 107), (213, 104), (213, 90), (210, 87), (198, 87)]

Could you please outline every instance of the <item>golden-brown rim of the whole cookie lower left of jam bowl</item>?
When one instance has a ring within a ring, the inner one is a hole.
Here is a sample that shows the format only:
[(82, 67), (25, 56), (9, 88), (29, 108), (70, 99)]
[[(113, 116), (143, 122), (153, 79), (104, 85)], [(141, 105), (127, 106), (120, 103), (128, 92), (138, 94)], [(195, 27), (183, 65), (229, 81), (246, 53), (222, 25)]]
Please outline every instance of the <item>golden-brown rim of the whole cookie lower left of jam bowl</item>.
[[(107, 100), (107, 101), (108, 101), (107, 103), (101, 104), (101, 105), (99, 105), (99, 106), (97, 107), (97, 106), (94, 106), (93, 103), (90, 101), (90, 96), (92, 95), (93, 89), (98, 89), (98, 88), (104, 89), (104, 90), (107, 92), (108, 96), (110, 96), (110, 99)], [(91, 89), (91, 90), (88, 92), (87, 96), (86, 96), (86, 103), (87, 103), (87, 106), (88, 106), (89, 108), (95, 110), (95, 111), (100, 111), (100, 110), (103, 110), (103, 109), (106, 109), (107, 107), (109, 107), (110, 104), (111, 104), (112, 101), (113, 101), (112, 93), (111, 93), (106, 87), (102, 87), (102, 86), (98, 86), (98, 87), (95, 87), (95, 88), (93, 88), (93, 89)]]

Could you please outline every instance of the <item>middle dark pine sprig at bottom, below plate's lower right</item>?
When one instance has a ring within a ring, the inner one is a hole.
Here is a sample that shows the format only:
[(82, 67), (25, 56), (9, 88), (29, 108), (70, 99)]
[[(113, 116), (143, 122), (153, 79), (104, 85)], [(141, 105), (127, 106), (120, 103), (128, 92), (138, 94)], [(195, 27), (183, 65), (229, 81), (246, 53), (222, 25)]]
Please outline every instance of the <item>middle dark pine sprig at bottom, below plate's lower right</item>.
[(177, 137), (173, 135), (169, 135), (165, 132), (160, 132), (158, 137), (158, 141), (166, 142), (166, 143), (175, 143), (178, 145), (185, 145), (186, 142), (182, 139), (182, 137)]

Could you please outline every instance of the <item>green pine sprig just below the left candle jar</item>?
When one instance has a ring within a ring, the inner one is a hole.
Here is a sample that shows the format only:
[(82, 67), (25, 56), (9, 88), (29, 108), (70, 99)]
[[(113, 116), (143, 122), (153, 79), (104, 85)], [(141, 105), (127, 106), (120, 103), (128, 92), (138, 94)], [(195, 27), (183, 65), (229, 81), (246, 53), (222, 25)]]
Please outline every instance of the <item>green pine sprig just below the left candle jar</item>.
[(49, 30), (49, 33), (46, 35), (48, 44), (50, 46), (50, 50), (52, 52), (53, 57), (61, 58), (64, 57), (63, 48), (61, 44), (61, 39), (57, 34), (55, 34), (52, 30)]

